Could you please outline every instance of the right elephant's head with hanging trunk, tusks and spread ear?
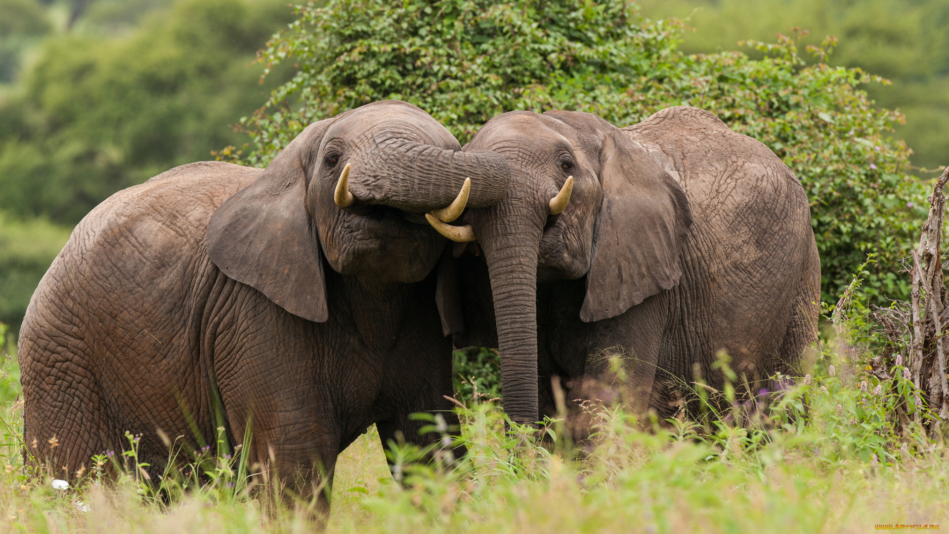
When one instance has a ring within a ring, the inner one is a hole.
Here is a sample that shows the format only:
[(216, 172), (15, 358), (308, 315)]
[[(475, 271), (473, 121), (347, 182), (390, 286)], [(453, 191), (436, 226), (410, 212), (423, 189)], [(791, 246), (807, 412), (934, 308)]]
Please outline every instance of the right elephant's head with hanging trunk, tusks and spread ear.
[(488, 263), (504, 409), (537, 420), (536, 284), (586, 276), (586, 321), (623, 314), (679, 281), (692, 222), (679, 184), (639, 143), (588, 113), (512, 111), (463, 149), (507, 160), (511, 184), (463, 226), (430, 219), (456, 240), (477, 239)]

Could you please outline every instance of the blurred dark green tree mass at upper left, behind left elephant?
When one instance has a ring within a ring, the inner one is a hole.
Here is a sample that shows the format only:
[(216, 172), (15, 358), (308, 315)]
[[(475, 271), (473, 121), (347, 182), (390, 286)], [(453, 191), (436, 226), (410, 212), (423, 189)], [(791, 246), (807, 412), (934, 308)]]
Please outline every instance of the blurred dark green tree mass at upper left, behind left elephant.
[(48, 39), (22, 93), (0, 103), (0, 209), (74, 224), (115, 191), (234, 143), (228, 124), (265, 89), (253, 53), (288, 11), (181, 0), (127, 37)]

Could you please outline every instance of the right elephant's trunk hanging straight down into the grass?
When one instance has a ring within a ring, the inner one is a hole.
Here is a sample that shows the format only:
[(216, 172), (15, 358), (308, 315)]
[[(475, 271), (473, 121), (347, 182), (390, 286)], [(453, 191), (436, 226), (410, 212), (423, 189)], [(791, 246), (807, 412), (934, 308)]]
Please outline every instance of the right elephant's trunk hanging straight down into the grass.
[(514, 215), (501, 223), (489, 219), (475, 228), (491, 277), (504, 411), (529, 425), (538, 420), (537, 251), (543, 227)]

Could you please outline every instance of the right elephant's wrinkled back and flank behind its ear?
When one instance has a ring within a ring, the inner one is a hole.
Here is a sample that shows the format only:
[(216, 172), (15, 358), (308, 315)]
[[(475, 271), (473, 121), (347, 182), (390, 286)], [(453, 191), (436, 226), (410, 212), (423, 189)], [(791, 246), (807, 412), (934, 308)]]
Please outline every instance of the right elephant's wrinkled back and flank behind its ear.
[[(691, 106), (661, 110), (623, 132), (671, 174), (693, 215), (682, 255), (685, 292), (710, 333), (705, 357), (773, 370), (789, 318), (819, 300), (820, 264), (800, 181), (765, 144)], [(735, 328), (745, 325), (747, 328)]]

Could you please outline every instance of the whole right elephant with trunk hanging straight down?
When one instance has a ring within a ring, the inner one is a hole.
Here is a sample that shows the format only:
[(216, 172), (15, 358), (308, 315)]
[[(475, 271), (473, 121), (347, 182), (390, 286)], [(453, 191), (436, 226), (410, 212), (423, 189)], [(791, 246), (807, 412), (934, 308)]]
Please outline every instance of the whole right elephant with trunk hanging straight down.
[[(718, 351), (756, 391), (813, 341), (820, 264), (804, 190), (713, 114), (672, 107), (621, 130), (587, 113), (514, 111), (464, 150), (494, 151), (512, 169), (505, 198), (462, 219), (484, 254), (480, 266), (462, 256), (456, 345), (499, 346), (513, 420), (554, 411), (552, 375), (568, 404), (608, 400), (605, 349), (629, 358), (634, 409), (669, 415), (672, 383), (691, 382), (695, 366), (720, 385)], [(569, 203), (550, 216), (568, 176)], [(478, 318), (490, 315), (489, 290), (496, 337)]]

